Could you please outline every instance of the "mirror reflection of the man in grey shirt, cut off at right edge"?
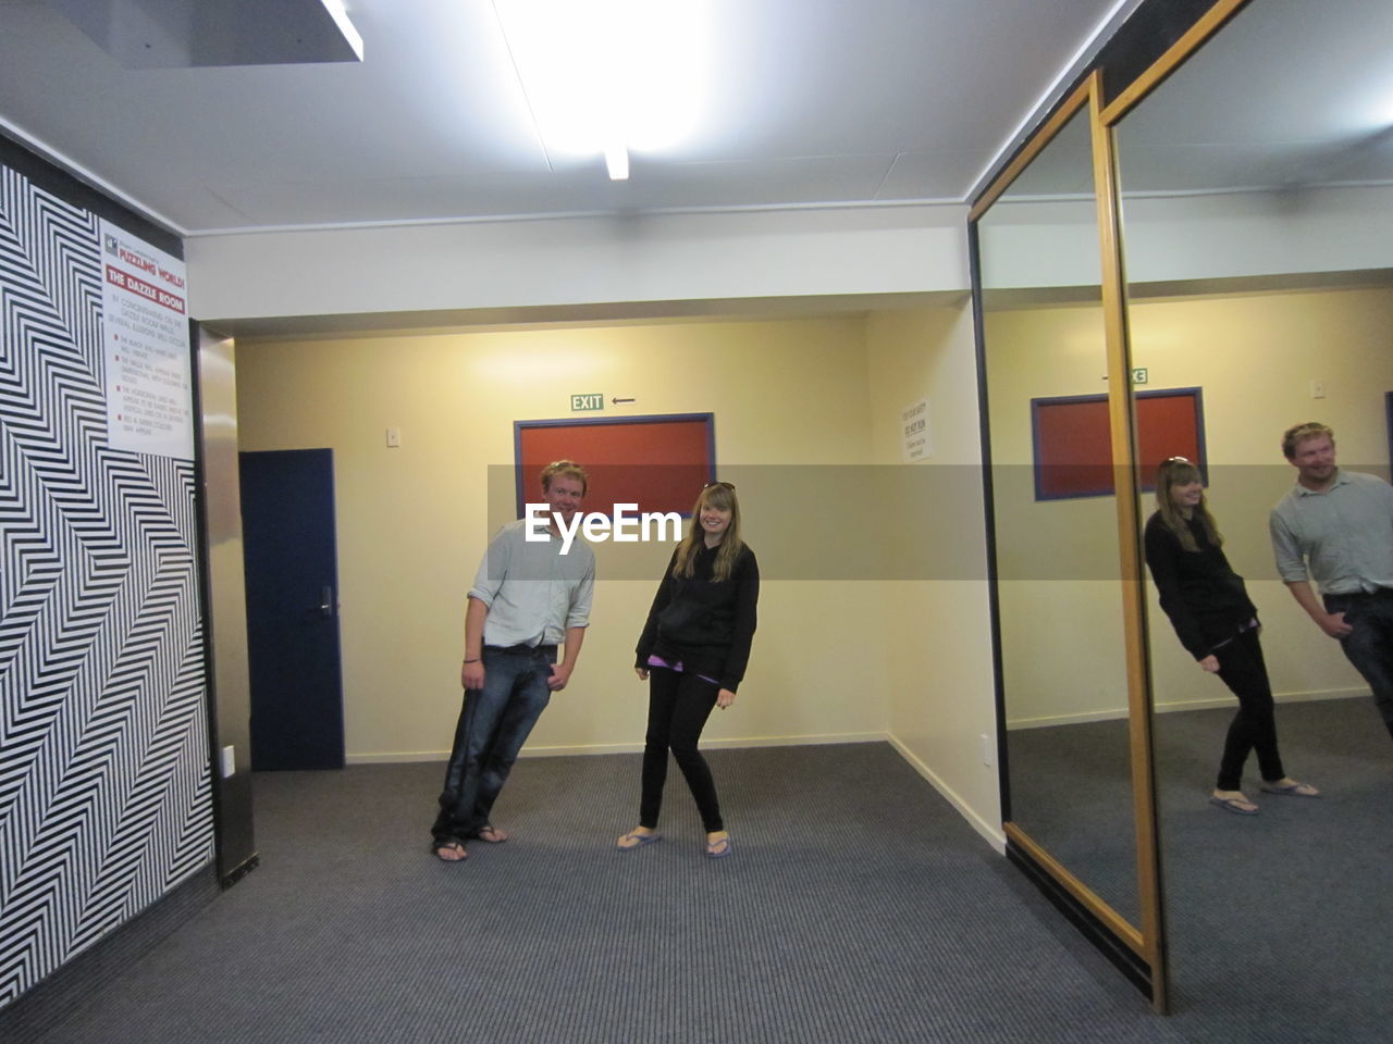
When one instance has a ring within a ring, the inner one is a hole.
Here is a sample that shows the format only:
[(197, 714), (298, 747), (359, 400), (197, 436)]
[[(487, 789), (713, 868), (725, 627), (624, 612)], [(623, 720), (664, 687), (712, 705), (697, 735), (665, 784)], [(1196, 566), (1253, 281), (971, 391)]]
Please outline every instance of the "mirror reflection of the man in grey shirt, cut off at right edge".
[(1289, 429), (1282, 452), (1297, 482), (1269, 519), (1277, 574), (1316, 626), (1339, 639), (1393, 735), (1393, 486), (1340, 470), (1325, 425)]

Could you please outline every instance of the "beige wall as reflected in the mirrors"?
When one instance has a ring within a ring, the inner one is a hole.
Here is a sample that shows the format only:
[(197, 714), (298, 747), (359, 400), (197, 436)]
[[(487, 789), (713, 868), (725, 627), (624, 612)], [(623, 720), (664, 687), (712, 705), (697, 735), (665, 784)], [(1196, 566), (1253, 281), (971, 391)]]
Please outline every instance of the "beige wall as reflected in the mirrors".
[[(1386, 475), (1383, 393), (1393, 390), (1393, 291), (1339, 290), (1212, 295), (1134, 301), (1133, 363), (1149, 370), (1149, 388), (1201, 387), (1211, 466), (1211, 507), (1227, 539), (1234, 568), (1248, 579), (1263, 621), (1263, 650), (1279, 699), (1340, 696), (1367, 690), (1336, 643), (1325, 638), (1276, 580), (1266, 518), (1293, 482), (1277, 448), (1282, 432), (1301, 420), (1336, 429), (1346, 466)], [(1052, 306), (1003, 312), (988, 320), (989, 345), (1007, 345), (1009, 366), (992, 381), (996, 459), (1029, 459), (1029, 395), (1098, 393), (1105, 388), (1096, 308)], [(1082, 347), (1096, 342), (1096, 352)], [(1034, 349), (1028, 349), (1034, 345)], [(995, 351), (989, 348), (989, 351)], [(1004, 349), (1003, 349), (1004, 351)], [(1096, 361), (1096, 362), (1095, 362)], [(1004, 361), (1003, 361), (1004, 362)], [(990, 356), (989, 356), (990, 365)], [(1325, 397), (1311, 397), (1311, 381)], [(997, 386), (1002, 386), (1000, 393)], [(1035, 504), (1025, 469), (1007, 479), (1007, 533), (1015, 548), (1060, 548), (1059, 572), (1084, 568), (1098, 548), (1116, 551), (1110, 498)], [(1014, 473), (1014, 472), (1013, 472)], [(1002, 473), (997, 473), (999, 489)], [(1017, 489), (1018, 487), (1018, 489)], [(1142, 504), (1142, 519), (1153, 501)], [(1027, 569), (1022, 557), (1018, 568)], [(1007, 564), (1003, 562), (1003, 574)], [(1032, 681), (1028, 697), (1009, 709), (1013, 721), (1081, 720), (1120, 713), (1120, 610), (1112, 585), (1021, 580), (1003, 592), (1003, 628), (1015, 642), (1007, 678)], [(1149, 585), (1148, 585), (1149, 586)], [(1032, 625), (1031, 621), (1036, 625)], [(1039, 628), (1039, 621), (1052, 626)], [(1160, 709), (1226, 706), (1222, 682), (1204, 677), (1180, 647), (1151, 596), (1149, 633), (1155, 699)], [(1029, 640), (1034, 633), (1038, 640)], [(1082, 656), (1088, 649), (1092, 656)], [(1098, 660), (1103, 654), (1107, 658)], [(1082, 658), (1081, 658), (1082, 656)], [(1087, 678), (1078, 665), (1091, 664)], [(1116, 709), (1106, 693), (1116, 693)]]

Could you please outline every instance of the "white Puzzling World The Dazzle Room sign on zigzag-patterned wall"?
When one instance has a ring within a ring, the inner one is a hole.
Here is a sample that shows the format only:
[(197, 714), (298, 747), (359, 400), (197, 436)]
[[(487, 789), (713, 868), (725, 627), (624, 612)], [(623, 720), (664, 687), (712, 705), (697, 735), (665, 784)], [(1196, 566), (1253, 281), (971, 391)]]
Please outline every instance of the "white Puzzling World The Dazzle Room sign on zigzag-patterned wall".
[(194, 459), (184, 262), (102, 221), (106, 427), (113, 450)]

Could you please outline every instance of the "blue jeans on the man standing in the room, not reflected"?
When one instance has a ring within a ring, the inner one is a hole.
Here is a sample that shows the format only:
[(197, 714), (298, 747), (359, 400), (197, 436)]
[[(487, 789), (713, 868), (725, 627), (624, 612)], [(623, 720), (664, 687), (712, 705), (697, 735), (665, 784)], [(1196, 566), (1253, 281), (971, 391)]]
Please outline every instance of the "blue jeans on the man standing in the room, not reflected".
[(430, 834), (437, 844), (476, 837), (518, 750), (552, 699), (556, 646), (483, 647), (483, 688), (465, 689), (454, 748)]

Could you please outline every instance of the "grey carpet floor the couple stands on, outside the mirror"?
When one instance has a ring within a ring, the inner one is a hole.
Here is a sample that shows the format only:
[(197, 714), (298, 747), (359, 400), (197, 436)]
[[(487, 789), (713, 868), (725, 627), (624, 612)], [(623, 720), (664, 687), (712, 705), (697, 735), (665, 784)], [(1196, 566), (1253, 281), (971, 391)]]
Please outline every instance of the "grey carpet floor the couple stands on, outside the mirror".
[(440, 766), (260, 775), (260, 869), (42, 1040), (1184, 1040), (887, 745), (710, 761), (726, 860), (676, 771), (664, 839), (613, 848), (637, 756), (520, 761), (457, 866)]

